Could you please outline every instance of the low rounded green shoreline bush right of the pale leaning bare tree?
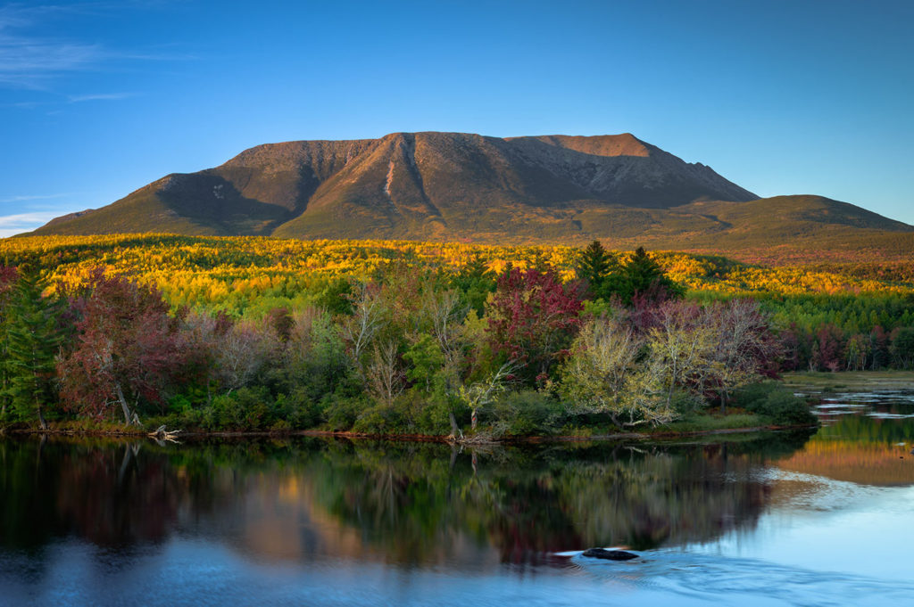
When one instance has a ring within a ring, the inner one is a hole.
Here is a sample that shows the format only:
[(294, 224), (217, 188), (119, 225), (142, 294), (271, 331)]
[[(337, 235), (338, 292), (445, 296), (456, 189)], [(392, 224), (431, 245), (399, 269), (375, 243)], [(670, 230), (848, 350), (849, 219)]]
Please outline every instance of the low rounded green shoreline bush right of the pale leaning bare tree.
[(510, 392), (492, 408), (496, 436), (554, 434), (561, 427), (565, 411), (546, 392)]

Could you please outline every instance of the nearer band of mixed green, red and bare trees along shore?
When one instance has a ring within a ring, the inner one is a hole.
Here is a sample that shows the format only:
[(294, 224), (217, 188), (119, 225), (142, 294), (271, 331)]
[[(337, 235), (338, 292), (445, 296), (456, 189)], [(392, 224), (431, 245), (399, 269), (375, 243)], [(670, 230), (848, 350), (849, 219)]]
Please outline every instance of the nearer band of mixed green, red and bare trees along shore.
[[(391, 263), (259, 318), (175, 309), (101, 267), (56, 285), (36, 266), (4, 267), (0, 415), (42, 427), (544, 434), (727, 409), (786, 360), (759, 302), (686, 299), (643, 249), (621, 257), (595, 242), (570, 277), (550, 262), (497, 273), (478, 255), (449, 272)], [(808, 419), (775, 388), (743, 404)]]

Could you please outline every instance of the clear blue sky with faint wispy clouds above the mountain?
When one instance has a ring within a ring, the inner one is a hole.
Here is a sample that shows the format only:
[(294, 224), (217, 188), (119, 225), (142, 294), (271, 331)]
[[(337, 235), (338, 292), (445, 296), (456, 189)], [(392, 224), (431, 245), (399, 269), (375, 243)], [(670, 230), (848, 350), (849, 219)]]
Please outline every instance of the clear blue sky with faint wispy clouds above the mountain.
[(912, 32), (907, 0), (2, 5), (0, 235), (252, 145), (394, 131), (628, 131), (914, 224)]

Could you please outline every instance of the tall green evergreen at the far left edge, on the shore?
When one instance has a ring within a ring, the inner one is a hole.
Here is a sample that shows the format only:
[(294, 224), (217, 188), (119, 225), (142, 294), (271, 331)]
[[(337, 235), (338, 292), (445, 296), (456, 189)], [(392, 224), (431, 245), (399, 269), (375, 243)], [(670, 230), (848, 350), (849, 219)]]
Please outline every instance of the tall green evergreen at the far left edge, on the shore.
[(19, 419), (37, 417), (47, 429), (43, 408), (55, 401), (55, 357), (63, 343), (58, 298), (44, 298), (36, 270), (19, 268), (6, 303), (4, 338), (5, 393)]

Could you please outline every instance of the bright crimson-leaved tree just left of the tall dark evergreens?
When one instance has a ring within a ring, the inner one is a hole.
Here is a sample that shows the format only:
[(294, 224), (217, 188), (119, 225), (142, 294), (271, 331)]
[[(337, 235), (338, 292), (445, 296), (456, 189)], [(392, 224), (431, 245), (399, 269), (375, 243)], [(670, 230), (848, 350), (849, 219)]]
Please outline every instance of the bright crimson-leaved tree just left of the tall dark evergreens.
[(545, 382), (580, 328), (579, 283), (562, 284), (555, 271), (509, 268), (488, 304), (489, 342), (518, 367), (519, 379)]

